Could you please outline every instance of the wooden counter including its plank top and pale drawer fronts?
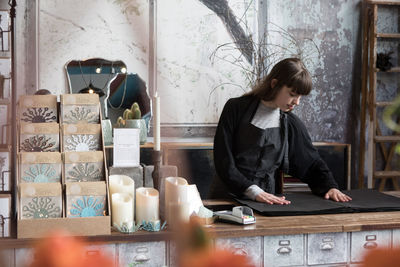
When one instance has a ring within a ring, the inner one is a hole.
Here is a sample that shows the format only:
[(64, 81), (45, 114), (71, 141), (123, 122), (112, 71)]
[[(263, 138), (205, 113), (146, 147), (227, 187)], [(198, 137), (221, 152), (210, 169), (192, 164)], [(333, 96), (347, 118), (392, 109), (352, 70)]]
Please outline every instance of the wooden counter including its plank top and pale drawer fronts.
[[(397, 195), (398, 193), (392, 193)], [(226, 201), (204, 201), (218, 208)], [(254, 266), (360, 266), (371, 249), (400, 247), (400, 212), (370, 212), (329, 215), (265, 217), (252, 225), (214, 223), (207, 227), (216, 247), (229, 247), (248, 255)], [(34, 229), (32, 229), (34, 231)], [(87, 255), (109, 252), (119, 266), (177, 266), (175, 233), (133, 234), (113, 232), (86, 237)], [(34, 257), (37, 239), (0, 240), (5, 266), (26, 266)]]

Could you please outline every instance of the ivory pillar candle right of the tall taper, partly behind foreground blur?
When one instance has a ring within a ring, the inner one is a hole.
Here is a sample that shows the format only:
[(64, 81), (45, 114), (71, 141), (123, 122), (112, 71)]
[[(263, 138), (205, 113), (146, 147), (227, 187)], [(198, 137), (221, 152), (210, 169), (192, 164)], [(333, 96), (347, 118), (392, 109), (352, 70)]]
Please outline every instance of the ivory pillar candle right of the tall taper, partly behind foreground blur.
[(164, 200), (164, 211), (165, 219), (168, 224), (171, 220), (169, 215), (169, 204), (177, 202), (187, 202), (187, 190), (188, 182), (182, 177), (167, 177), (164, 180), (165, 183), (165, 200)]

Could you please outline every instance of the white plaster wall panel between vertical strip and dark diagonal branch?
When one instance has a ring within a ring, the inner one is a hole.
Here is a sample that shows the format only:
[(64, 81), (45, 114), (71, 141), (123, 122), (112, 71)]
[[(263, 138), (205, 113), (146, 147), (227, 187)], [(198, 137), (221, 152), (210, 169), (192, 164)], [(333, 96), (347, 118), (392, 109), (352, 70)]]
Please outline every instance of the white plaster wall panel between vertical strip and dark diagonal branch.
[[(254, 2), (229, 1), (238, 20), (249, 20), (250, 30), (254, 30)], [(217, 123), (227, 99), (249, 89), (242, 74), (248, 63), (233, 44), (217, 54), (227, 60), (210, 59), (218, 46), (232, 39), (221, 19), (198, 0), (158, 1), (157, 25), (161, 121)], [(242, 67), (228, 63), (237, 59)]]

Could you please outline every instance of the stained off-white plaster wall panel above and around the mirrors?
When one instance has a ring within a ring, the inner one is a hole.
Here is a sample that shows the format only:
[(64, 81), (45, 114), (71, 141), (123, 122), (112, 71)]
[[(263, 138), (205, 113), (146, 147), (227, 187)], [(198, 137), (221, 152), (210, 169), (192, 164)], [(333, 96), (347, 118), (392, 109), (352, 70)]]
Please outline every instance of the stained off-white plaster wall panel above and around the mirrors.
[(102, 57), (123, 60), (148, 79), (148, 1), (40, 0), (39, 88), (67, 92), (65, 64)]

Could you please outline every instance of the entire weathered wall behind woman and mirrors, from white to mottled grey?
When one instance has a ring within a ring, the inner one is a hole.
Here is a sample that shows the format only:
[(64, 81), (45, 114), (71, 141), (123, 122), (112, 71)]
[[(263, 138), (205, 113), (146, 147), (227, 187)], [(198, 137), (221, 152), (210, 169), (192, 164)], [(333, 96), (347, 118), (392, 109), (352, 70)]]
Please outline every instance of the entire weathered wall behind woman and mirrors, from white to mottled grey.
[[(32, 25), (37, 21), (39, 88), (56, 94), (67, 92), (64, 64), (89, 57), (121, 59), (128, 71), (137, 72), (148, 82), (146, 1), (28, 2), (24, 16), (27, 24), (22, 28), (26, 31), (26, 47), (18, 53), (25, 55), (21, 67), (34, 65), (36, 34), (32, 36)], [(39, 5), (38, 16), (34, 15), (34, 2)], [(353, 70), (360, 68), (356, 66), (360, 55), (356, 48), (360, 2), (259, 0), (254, 5), (252, 1), (229, 1), (235, 14), (247, 22), (242, 26), (248, 33), (258, 31), (257, 17), (266, 18), (265, 30), (272, 43), (285, 46), (282, 36), (273, 34), (276, 25), (298, 40), (294, 50), (300, 47), (307, 54), (310, 70), (316, 76), (315, 90), (304, 98), (296, 113), (305, 121), (314, 141), (351, 141)], [(176, 11), (173, 19), (172, 11)], [(210, 61), (218, 45), (232, 42), (223, 23), (198, 0), (158, 1), (157, 23), (157, 90), (163, 99), (162, 124), (215, 125), (226, 100), (249, 89), (243, 67)], [(238, 59), (237, 53), (231, 49), (219, 56)], [(247, 68), (244, 60), (238, 62)], [(31, 92), (35, 87), (33, 73), (32, 69), (25, 71), (21, 90)]]

